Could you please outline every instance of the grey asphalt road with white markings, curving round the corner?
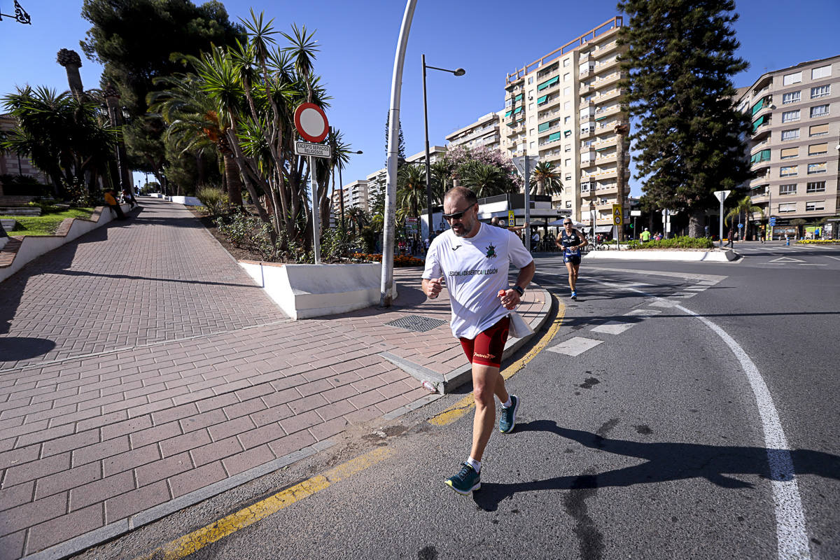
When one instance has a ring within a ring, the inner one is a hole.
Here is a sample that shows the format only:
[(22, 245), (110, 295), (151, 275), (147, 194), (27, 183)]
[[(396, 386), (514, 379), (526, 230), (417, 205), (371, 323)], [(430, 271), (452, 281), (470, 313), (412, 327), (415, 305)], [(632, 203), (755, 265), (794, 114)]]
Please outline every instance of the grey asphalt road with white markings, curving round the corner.
[(465, 388), (78, 557), (164, 557), (251, 506), (227, 536), (182, 542), (207, 543), (190, 557), (836, 559), (840, 250), (736, 249), (736, 264), (585, 260), (578, 301), (538, 259), (556, 333), (509, 379), (517, 428), (491, 437), (470, 497), (443, 480), (471, 411), (429, 421)]

